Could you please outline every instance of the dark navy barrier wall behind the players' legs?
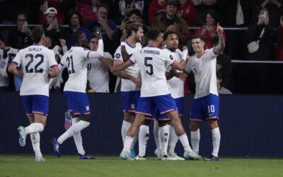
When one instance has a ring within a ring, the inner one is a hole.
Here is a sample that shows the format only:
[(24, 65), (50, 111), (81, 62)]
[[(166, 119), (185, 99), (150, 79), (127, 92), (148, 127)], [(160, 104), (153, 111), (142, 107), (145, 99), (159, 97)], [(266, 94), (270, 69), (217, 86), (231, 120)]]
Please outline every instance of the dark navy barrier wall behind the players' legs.
[[(118, 93), (89, 94), (91, 125), (82, 131), (83, 146), (89, 154), (118, 155), (122, 150), (120, 127), (122, 99)], [(192, 96), (185, 96), (184, 125), (187, 135)], [(283, 156), (283, 96), (226, 95), (220, 96), (220, 156)], [(30, 137), (25, 147), (18, 144), (19, 125), (28, 125), (21, 96), (17, 92), (0, 93), (0, 154), (33, 154)], [(52, 137), (64, 132), (64, 111), (67, 102), (62, 93), (50, 93), (50, 111), (45, 130), (40, 134), (43, 154), (52, 154)], [(147, 154), (153, 154), (153, 123)], [(201, 127), (200, 154), (212, 151), (211, 132)], [(136, 149), (137, 149), (136, 144)], [(178, 142), (176, 151), (183, 154)], [(62, 145), (62, 154), (76, 154), (72, 138)]]

